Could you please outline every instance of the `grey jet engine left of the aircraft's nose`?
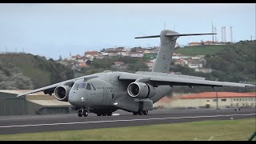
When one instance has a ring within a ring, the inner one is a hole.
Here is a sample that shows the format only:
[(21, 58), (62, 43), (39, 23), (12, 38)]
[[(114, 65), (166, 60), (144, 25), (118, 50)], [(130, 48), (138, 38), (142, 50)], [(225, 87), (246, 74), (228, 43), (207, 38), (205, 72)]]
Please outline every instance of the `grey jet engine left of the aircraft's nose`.
[(68, 102), (70, 94), (70, 86), (58, 86), (54, 90), (55, 98), (59, 101)]

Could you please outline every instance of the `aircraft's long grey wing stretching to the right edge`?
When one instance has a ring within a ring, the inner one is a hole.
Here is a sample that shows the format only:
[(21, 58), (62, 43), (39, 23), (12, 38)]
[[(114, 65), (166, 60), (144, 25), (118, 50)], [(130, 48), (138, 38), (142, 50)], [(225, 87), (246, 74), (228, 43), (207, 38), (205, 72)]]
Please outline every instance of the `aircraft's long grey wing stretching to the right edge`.
[[(237, 86), (237, 87), (247, 87), (254, 86), (244, 83), (234, 83), (234, 82), (217, 82), (217, 81), (208, 81), (198, 77), (171, 77), (171, 75), (166, 74), (166, 76), (158, 76), (158, 74), (121, 74), (119, 76), (120, 80), (130, 80), (135, 81), (138, 78), (149, 78), (150, 83), (154, 86), (159, 85), (169, 85), (169, 86)], [(176, 74), (173, 74), (176, 75)]]

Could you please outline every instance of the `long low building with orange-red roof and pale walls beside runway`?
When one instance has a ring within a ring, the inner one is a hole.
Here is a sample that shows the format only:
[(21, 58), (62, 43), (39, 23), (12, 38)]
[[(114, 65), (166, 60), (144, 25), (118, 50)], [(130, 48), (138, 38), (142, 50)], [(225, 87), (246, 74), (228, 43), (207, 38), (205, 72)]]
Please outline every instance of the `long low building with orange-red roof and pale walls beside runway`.
[(177, 96), (170, 102), (172, 108), (238, 108), (256, 107), (256, 93), (205, 92)]

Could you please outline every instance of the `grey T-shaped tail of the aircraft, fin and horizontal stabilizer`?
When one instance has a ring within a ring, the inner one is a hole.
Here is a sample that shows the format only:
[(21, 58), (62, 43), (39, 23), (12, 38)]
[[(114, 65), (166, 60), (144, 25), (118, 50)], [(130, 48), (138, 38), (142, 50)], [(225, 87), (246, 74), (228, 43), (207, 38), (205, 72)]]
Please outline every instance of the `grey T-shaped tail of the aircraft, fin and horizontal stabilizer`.
[[(214, 34), (214, 33), (208, 33)], [(146, 37), (137, 38), (159, 38), (160, 37), (160, 50), (152, 72), (168, 73), (170, 70), (170, 62), (174, 54), (174, 47), (176, 45), (176, 40), (180, 36), (190, 36), (190, 35), (206, 35), (206, 34), (178, 34), (173, 30), (162, 30), (160, 35), (151, 35)]]

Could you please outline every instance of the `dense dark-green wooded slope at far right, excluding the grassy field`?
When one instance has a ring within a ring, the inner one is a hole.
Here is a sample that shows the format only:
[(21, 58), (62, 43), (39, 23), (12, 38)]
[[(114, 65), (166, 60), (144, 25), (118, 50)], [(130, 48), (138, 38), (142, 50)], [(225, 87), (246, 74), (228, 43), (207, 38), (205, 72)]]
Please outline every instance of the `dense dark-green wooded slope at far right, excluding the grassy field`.
[(206, 55), (206, 67), (221, 81), (255, 82), (256, 41), (241, 41)]

